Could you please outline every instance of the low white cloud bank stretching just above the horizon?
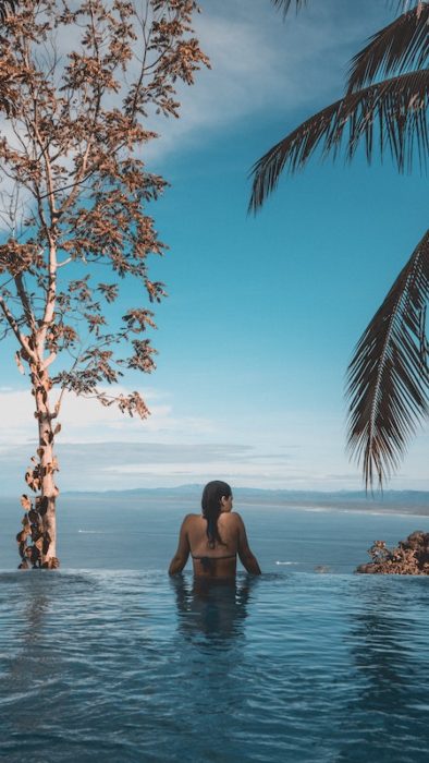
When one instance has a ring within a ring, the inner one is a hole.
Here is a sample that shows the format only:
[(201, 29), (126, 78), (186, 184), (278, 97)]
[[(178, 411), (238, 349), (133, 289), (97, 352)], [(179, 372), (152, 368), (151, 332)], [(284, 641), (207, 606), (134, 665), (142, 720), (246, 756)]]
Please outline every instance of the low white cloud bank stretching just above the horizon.
[[(174, 486), (211, 479), (249, 487), (361, 487), (358, 469), (344, 455), (343, 423), (328, 413), (284, 410), (272, 419), (261, 414), (214, 422), (177, 415), (169, 397), (154, 389), (145, 397), (152, 415), (142, 422), (95, 400), (69, 396), (57, 438), (62, 491)], [(0, 389), (3, 494), (25, 489), (23, 473), (36, 447), (33, 411), (28, 391)], [(427, 435), (416, 438), (391, 487), (429, 488), (427, 444)]]

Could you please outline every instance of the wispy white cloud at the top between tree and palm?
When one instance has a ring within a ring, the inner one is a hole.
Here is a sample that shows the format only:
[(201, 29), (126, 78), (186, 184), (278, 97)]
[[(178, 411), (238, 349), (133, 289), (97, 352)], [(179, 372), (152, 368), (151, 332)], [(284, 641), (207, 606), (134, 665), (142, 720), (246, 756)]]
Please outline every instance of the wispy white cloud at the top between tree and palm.
[(194, 25), (211, 71), (177, 88), (181, 118), (156, 121), (161, 137), (145, 148), (146, 158), (183, 150), (262, 110), (291, 116), (340, 96), (348, 58), (381, 19), (373, 3), (361, 4), (365, 12), (338, 0), (314, 3), (283, 23), (268, 0), (204, 2)]

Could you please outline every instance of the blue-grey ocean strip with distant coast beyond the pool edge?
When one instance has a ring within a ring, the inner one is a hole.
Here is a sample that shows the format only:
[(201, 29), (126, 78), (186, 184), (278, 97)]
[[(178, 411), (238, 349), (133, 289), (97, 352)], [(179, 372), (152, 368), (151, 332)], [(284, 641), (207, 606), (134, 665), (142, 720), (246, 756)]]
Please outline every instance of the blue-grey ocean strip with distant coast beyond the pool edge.
[[(58, 501), (58, 556), (68, 569), (167, 569), (186, 513), (200, 511), (200, 485), (180, 488), (73, 492)], [(323, 566), (353, 572), (376, 540), (396, 545), (429, 531), (429, 493), (234, 489), (234, 510), (266, 570), (291, 562), (302, 571)], [(0, 569), (17, 564), (19, 498), (0, 499)]]

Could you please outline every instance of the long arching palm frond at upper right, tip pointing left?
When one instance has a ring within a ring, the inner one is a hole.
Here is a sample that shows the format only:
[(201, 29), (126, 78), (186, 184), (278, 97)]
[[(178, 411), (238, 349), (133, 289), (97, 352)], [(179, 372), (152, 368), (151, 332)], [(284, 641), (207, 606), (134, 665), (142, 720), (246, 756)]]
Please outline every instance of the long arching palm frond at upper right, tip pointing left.
[(249, 210), (256, 213), (260, 208), (284, 168), (290, 172), (301, 170), (320, 144), (323, 157), (332, 153), (335, 158), (346, 133), (348, 160), (364, 141), (370, 162), (377, 142), (380, 157), (389, 149), (401, 172), (410, 170), (415, 153), (420, 168), (425, 167), (429, 149), (428, 100), (428, 69), (347, 93), (303, 122), (254, 165)]

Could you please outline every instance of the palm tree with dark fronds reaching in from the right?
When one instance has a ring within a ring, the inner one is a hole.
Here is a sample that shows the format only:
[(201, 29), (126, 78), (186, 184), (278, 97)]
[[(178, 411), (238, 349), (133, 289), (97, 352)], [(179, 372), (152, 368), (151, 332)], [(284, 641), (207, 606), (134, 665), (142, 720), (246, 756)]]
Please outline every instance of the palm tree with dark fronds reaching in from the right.
[[(292, 0), (272, 0), (286, 12)], [(296, 0), (296, 8), (305, 0)], [(414, 7), (409, 9), (409, 4)], [(429, 3), (399, 0), (405, 12), (371, 37), (351, 65), (345, 95), (307, 119), (254, 167), (250, 209), (277, 187), (283, 169), (304, 168), (315, 150), (348, 160), (364, 143), (368, 162), (390, 153), (400, 172), (429, 152)], [(380, 77), (385, 77), (380, 80)], [(348, 447), (366, 486), (382, 486), (428, 414), (429, 231), (367, 326), (348, 366)]]

